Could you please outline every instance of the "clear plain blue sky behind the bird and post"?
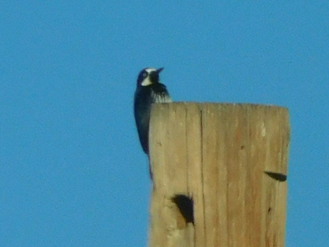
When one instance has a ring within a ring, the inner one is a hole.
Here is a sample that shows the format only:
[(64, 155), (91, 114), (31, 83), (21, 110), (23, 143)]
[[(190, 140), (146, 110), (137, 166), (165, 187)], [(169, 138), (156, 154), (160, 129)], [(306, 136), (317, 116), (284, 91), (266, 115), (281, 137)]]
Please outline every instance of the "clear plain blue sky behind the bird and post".
[(328, 246), (328, 1), (119, 2), (0, 4), (0, 246), (146, 245), (146, 66), (177, 101), (288, 107), (286, 246)]

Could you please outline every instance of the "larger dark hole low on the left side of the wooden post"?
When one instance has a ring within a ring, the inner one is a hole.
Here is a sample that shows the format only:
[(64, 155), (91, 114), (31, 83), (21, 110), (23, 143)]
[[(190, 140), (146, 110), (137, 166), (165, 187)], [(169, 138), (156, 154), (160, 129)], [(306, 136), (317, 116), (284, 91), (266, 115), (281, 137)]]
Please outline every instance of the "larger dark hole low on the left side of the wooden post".
[(194, 224), (193, 199), (185, 195), (175, 195), (171, 200), (177, 205), (185, 222)]

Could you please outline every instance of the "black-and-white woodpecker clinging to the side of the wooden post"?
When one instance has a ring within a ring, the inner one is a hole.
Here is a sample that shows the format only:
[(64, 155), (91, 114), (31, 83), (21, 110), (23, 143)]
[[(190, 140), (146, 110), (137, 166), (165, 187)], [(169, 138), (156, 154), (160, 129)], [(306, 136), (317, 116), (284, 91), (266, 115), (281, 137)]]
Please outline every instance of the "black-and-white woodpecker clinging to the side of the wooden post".
[[(134, 95), (134, 115), (140, 144), (149, 156), (149, 126), (152, 103), (169, 103), (172, 99), (165, 84), (160, 83), (159, 73), (162, 68), (143, 68), (137, 77)], [(152, 179), (152, 172), (150, 168)]]

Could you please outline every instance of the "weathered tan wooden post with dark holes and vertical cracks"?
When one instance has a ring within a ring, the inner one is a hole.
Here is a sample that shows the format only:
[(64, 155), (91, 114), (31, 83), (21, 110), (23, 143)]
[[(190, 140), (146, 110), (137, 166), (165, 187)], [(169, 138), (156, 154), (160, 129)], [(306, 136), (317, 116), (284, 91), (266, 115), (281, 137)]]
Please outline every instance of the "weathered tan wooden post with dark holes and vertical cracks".
[(154, 104), (150, 247), (284, 246), (289, 120), (253, 104)]

